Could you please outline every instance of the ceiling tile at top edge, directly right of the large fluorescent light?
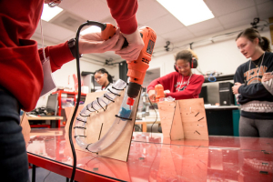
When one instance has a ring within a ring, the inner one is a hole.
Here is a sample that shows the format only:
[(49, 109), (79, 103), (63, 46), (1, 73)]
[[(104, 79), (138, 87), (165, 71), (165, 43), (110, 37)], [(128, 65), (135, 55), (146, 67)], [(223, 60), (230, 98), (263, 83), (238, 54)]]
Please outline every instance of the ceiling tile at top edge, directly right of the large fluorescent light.
[(206, 0), (213, 15), (227, 15), (238, 10), (255, 5), (254, 0)]

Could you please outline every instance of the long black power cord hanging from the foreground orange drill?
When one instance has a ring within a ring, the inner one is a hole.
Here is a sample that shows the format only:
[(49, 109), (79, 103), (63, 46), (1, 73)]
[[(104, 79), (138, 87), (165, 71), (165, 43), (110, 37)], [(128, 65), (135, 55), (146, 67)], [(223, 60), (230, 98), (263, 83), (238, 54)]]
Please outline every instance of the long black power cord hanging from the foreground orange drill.
[(69, 131), (68, 131), (69, 142), (70, 142), (70, 146), (71, 146), (71, 150), (72, 150), (72, 154), (73, 154), (73, 169), (72, 169), (72, 175), (70, 177), (70, 182), (74, 181), (74, 177), (75, 177), (75, 173), (76, 173), (76, 151), (75, 151), (75, 147), (74, 147), (73, 140), (72, 140), (72, 126), (74, 123), (74, 119), (76, 117), (76, 111), (78, 109), (78, 105), (79, 105), (80, 98), (81, 98), (81, 74), (80, 74), (80, 64), (79, 64), (78, 39), (79, 39), (79, 34), (80, 34), (81, 29), (86, 25), (96, 25), (96, 26), (101, 27), (102, 30), (104, 27), (104, 24), (102, 24), (102, 23), (95, 22), (95, 21), (87, 21), (86, 23), (80, 25), (77, 29), (77, 32), (76, 32), (76, 75), (77, 75), (77, 83), (78, 83), (77, 84), (78, 93), (77, 93), (75, 110), (73, 112), (73, 116), (71, 118), (70, 125), (69, 125)]

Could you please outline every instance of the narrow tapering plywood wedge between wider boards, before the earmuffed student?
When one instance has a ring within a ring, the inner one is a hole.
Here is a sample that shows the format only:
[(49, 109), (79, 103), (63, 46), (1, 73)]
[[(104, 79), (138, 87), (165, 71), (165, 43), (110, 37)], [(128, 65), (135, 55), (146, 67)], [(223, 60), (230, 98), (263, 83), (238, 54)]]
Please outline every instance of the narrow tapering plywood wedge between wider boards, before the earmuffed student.
[(184, 138), (184, 131), (183, 131), (183, 125), (182, 120), (180, 116), (180, 106), (179, 102), (176, 102), (176, 108), (175, 108), (175, 115), (173, 118), (173, 124), (171, 126), (170, 131), (170, 138), (171, 140), (180, 140)]

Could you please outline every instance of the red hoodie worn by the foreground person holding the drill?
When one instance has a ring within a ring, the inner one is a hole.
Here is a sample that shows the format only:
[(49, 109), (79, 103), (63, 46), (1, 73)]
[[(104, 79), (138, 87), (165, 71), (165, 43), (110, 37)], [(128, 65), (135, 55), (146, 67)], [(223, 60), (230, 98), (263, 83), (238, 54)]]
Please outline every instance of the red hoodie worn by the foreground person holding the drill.
[[(137, 0), (107, 0), (111, 14), (125, 34), (136, 31)], [(30, 40), (43, 11), (44, 0), (0, 1), (0, 86), (19, 101), (25, 111), (35, 108), (43, 88), (44, 59)], [(66, 43), (45, 48), (52, 71), (74, 59)]]

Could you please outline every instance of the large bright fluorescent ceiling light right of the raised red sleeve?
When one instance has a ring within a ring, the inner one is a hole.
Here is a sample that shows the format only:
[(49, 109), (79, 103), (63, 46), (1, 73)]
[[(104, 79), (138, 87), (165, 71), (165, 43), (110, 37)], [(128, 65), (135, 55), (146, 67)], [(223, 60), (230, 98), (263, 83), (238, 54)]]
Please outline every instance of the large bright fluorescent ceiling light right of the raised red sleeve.
[(184, 25), (193, 25), (214, 18), (203, 0), (157, 0)]

